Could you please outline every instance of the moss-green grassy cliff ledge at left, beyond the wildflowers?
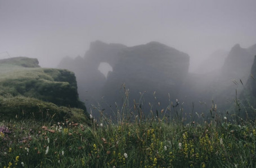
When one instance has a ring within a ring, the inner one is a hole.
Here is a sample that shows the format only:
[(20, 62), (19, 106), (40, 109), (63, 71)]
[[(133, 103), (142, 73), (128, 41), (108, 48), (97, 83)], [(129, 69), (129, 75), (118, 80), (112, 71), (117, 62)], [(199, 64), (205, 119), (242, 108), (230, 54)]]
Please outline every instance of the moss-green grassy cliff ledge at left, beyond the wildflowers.
[(60, 119), (75, 113), (86, 120), (84, 110), (85, 106), (78, 100), (73, 72), (39, 68), (37, 59), (19, 57), (0, 60), (1, 119), (14, 118), (16, 115), (28, 118), (32, 113), (38, 119), (46, 118), (41, 113), (55, 115), (53, 119)]

